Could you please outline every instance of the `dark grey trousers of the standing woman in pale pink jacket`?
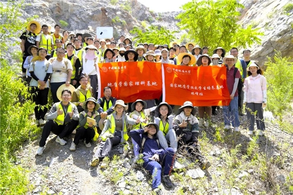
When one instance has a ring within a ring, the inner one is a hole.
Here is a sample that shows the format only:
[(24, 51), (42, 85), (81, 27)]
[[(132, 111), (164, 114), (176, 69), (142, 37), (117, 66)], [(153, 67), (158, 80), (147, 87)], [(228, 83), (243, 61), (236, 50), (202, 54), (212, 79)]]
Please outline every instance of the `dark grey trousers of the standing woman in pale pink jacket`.
[[(246, 110), (246, 114), (247, 114), (249, 131), (254, 130), (255, 117), (256, 117), (257, 129), (265, 131), (262, 103), (246, 103), (245, 110)], [(256, 114), (254, 114), (255, 112), (256, 112)]]

